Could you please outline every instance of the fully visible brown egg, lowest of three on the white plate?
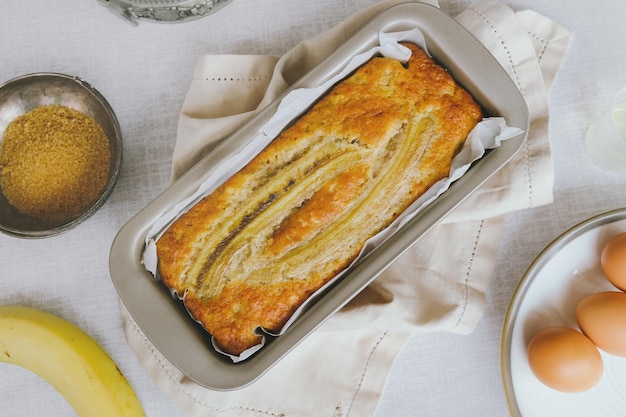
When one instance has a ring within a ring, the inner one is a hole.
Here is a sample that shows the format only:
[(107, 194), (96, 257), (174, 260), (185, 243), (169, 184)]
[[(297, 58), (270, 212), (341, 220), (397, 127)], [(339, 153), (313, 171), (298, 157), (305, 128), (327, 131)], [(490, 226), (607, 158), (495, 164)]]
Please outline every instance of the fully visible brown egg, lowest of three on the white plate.
[(537, 379), (562, 392), (581, 392), (595, 386), (604, 372), (598, 348), (569, 327), (547, 327), (528, 344), (528, 362)]

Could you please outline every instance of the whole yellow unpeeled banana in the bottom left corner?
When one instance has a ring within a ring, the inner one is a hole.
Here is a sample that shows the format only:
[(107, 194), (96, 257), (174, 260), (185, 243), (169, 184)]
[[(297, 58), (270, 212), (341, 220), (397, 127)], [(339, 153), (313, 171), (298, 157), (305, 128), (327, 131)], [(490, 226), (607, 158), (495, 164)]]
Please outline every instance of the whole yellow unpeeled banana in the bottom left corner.
[(0, 362), (47, 380), (80, 417), (143, 417), (113, 359), (74, 324), (42, 310), (0, 306)]

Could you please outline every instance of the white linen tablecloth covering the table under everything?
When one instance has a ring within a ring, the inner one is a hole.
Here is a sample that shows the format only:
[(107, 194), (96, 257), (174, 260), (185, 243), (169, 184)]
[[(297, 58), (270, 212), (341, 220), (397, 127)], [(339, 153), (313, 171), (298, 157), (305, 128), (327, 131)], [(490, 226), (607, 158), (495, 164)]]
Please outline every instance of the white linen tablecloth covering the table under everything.
[[(105, 206), (77, 229), (52, 239), (0, 236), (0, 304), (21, 303), (62, 315), (116, 360), (151, 417), (184, 416), (129, 349), (109, 278), (117, 231), (167, 185), (178, 114), (196, 59), (204, 54), (285, 53), (372, 0), (235, 0), (217, 14), (182, 25), (132, 27), (91, 0), (7, 2), (0, 12), (0, 82), (38, 71), (79, 75), (115, 109), (124, 132), (120, 181)], [(469, 1), (441, 0), (450, 14)], [(466, 336), (416, 334), (395, 363), (377, 416), (504, 416), (500, 332), (513, 290), (534, 257), (570, 226), (626, 205), (624, 175), (607, 174), (582, 145), (590, 121), (626, 73), (626, 3), (504, 1), (535, 10), (574, 32), (550, 95), (554, 203), (507, 215), (484, 316)], [(0, 414), (71, 416), (47, 384), (0, 364)]]

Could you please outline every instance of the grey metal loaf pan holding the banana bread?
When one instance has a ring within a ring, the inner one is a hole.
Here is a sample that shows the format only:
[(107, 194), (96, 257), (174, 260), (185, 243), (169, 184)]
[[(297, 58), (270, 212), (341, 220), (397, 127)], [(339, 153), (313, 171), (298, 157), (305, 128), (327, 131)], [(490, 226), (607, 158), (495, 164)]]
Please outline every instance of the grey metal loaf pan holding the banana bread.
[(503, 142), (501, 147), (476, 162), (434, 204), (355, 265), (283, 335), (248, 360), (234, 364), (212, 349), (208, 333), (191, 319), (182, 303), (173, 299), (164, 285), (143, 268), (141, 257), (145, 236), (154, 221), (178, 201), (193, 194), (216, 161), (237, 152), (238, 144), (253, 137), (276, 111), (280, 97), (262, 110), (132, 218), (120, 230), (111, 248), (110, 273), (122, 302), (157, 349), (198, 384), (214, 390), (232, 390), (255, 381), (498, 171), (524, 143), (529, 125), (528, 109), (504, 69), (454, 19), (422, 3), (402, 3), (385, 10), (289, 91), (321, 84), (352, 56), (377, 45), (381, 30), (402, 31), (416, 27), (423, 32), (435, 60), (470, 91), (489, 116), (502, 116), (509, 126), (518, 127), (524, 133)]

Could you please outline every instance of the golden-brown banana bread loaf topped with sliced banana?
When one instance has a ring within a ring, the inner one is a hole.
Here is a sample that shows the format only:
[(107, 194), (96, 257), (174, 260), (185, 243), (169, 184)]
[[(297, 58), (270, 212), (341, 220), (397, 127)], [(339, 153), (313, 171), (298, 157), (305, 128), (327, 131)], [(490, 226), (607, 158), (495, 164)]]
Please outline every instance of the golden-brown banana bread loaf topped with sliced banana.
[(436, 181), (481, 120), (421, 49), (372, 58), (157, 242), (159, 274), (227, 353), (280, 330)]

